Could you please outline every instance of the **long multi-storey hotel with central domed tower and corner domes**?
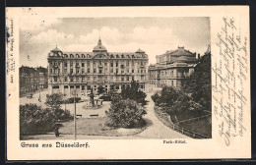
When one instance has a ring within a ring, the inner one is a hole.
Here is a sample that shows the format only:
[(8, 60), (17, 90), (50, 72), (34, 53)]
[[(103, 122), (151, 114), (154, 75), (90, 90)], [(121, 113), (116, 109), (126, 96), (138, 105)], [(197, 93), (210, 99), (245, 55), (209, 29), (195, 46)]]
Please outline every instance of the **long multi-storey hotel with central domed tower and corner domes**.
[(93, 52), (64, 52), (57, 47), (48, 54), (49, 94), (88, 95), (98, 86), (118, 92), (134, 80), (147, 91), (148, 55), (136, 52), (108, 52), (99, 38)]

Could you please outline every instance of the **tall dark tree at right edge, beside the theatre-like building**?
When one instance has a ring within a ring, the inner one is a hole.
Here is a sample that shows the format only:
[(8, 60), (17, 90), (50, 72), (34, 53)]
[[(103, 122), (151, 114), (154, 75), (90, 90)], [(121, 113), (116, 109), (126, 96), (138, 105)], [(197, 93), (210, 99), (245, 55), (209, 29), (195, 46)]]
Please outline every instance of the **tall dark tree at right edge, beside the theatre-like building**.
[(202, 56), (183, 89), (206, 110), (212, 109), (211, 52)]

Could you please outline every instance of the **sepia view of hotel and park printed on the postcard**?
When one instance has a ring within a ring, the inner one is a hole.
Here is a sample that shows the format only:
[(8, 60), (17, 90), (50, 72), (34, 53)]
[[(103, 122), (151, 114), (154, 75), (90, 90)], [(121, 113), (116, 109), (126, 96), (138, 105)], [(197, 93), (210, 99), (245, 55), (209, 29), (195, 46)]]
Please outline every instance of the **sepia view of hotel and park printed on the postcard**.
[(209, 17), (21, 19), (20, 139), (212, 138), (210, 31)]

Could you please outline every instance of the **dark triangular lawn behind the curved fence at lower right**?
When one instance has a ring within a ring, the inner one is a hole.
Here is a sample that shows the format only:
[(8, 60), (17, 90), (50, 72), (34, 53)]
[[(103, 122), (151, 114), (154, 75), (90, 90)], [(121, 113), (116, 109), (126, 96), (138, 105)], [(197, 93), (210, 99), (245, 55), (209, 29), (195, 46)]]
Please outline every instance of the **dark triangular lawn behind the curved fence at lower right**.
[(212, 116), (199, 121), (180, 123), (179, 126), (212, 138)]

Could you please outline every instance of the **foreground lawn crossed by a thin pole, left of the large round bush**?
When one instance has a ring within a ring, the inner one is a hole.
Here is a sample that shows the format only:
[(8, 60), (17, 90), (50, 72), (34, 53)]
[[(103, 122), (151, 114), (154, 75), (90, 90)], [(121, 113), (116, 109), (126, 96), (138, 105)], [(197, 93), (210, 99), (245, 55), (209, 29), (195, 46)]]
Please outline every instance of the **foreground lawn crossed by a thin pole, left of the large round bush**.
[[(146, 127), (138, 129), (109, 129), (104, 126), (106, 117), (77, 119), (77, 134), (88, 136), (121, 137), (141, 133)], [(63, 123), (60, 134), (74, 134), (74, 121)]]

